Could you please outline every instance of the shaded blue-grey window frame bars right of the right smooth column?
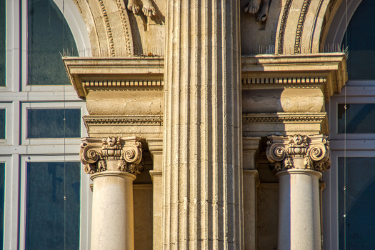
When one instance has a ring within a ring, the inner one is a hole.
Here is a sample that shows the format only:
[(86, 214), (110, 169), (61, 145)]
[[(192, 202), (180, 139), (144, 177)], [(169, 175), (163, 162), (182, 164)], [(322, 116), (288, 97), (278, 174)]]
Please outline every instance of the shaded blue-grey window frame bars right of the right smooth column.
[[(345, 88), (345, 89), (344, 89)], [(329, 113), (331, 169), (323, 173), (323, 245), (339, 249), (339, 157), (375, 157), (375, 134), (338, 134), (338, 104), (375, 104), (375, 80), (350, 80), (331, 96)], [(344, 142), (346, 140), (346, 145)]]

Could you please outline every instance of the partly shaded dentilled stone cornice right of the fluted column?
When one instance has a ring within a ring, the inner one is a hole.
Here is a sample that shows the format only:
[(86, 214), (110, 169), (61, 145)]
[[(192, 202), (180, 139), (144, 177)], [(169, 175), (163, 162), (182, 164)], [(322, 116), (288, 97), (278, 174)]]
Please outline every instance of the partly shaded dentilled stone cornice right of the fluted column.
[(348, 80), (342, 53), (243, 56), (242, 89), (316, 89), (325, 102)]

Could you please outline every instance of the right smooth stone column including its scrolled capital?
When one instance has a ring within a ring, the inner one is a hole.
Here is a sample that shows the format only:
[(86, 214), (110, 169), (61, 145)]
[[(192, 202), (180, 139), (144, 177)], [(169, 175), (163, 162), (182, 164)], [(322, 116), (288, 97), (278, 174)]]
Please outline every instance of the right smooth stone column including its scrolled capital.
[(319, 178), (331, 166), (327, 136), (269, 136), (279, 177), (279, 250), (321, 249)]

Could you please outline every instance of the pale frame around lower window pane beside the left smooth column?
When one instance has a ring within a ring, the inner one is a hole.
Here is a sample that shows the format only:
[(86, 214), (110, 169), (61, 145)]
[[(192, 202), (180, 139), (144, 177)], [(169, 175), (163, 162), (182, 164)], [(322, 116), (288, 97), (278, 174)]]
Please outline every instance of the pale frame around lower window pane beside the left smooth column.
[[(64, 162), (64, 161), (80, 161), (79, 155), (24, 155), (21, 156), (20, 169), (20, 187), (19, 187), (19, 247), (25, 249), (26, 244), (26, 164), (28, 162)], [(92, 192), (90, 184), (92, 181), (90, 176), (84, 172), (83, 164), (81, 164), (81, 204), (80, 204), (80, 221), (79, 221), (79, 249), (90, 249), (91, 239), (91, 204)]]

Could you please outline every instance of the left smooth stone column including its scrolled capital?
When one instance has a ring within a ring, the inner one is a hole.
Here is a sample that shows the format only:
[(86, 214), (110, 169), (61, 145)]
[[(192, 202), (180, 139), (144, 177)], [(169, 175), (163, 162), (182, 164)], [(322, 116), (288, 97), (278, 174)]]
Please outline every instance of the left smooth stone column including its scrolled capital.
[(133, 181), (144, 169), (137, 137), (84, 138), (81, 161), (94, 181), (91, 249), (134, 249)]

